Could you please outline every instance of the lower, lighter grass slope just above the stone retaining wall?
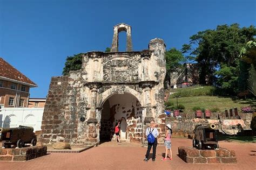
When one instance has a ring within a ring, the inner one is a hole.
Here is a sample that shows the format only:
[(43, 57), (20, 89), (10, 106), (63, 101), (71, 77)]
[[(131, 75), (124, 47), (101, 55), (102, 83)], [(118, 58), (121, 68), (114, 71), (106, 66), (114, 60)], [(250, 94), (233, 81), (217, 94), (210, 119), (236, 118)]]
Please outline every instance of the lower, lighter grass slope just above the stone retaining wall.
[[(176, 98), (169, 98), (169, 101), (177, 105)], [(183, 104), (185, 107), (184, 112), (193, 112), (193, 107), (203, 107), (205, 109), (219, 108), (221, 112), (225, 109), (231, 109), (232, 107), (238, 108), (247, 107), (249, 104), (246, 101), (233, 101), (230, 97), (219, 96), (188, 96), (178, 97), (178, 104)]]

